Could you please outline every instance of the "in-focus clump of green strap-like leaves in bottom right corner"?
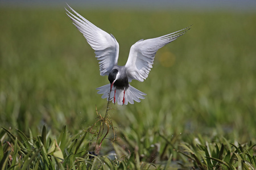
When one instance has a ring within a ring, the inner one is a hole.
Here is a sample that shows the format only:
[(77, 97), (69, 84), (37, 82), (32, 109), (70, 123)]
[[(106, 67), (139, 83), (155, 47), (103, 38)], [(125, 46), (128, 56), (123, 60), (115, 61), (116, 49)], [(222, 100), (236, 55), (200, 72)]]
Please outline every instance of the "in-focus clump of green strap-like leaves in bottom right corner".
[(204, 145), (195, 139), (193, 145), (180, 144), (181, 155), (188, 158), (193, 168), (199, 169), (255, 169), (256, 150), (251, 142), (239, 143), (209, 143)]

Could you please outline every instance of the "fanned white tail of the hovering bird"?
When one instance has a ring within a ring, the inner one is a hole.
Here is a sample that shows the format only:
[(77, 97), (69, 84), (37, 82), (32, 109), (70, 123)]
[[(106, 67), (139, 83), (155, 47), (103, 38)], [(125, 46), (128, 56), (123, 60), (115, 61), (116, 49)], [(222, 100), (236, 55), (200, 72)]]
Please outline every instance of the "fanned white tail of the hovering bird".
[[(105, 86), (101, 86), (96, 88), (98, 90), (97, 94), (103, 94), (101, 96), (102, 99), (109, 99), (109, 92), (110, 92), (110, 84), (106, 84)], [(114, 95), (115, 95), (115, 103), (118, 103), (120, 105), (125, 104), (127, 105), (128, 102), (130, 104), (134, 104), (134, 101), (141, 102), (140, 99), (145, 99), (145, 95), (143, 92), (137, 90), (133, 86), (129, 86), (125, 90), (125, 94), (123, 94), (124, 90), (117, 89), (114, 90), (114, 87), (112, 88), (112, 91), (110, 93), (110, 100), (114, 103)], [(115, 94), (114, 94), (115, 93)], [(123, 95), (125, 95), (125, 102), (123, 103)]]

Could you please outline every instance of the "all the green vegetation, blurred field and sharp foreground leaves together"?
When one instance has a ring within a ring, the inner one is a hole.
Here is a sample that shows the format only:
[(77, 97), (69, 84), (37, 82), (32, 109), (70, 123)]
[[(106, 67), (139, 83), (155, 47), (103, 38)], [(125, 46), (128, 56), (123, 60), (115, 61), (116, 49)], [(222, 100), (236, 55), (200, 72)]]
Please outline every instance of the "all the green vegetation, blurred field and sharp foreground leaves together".
[(131, 83), (146, 99), (110, 105), (115, 142), (94, 158), (108, 79), (93, 50), (64, 9), (1, 8), (1, 169), (255, 169), (255, 13), (76, 10), (113, 33), (120, 65), (139, 39), (193, 26)]

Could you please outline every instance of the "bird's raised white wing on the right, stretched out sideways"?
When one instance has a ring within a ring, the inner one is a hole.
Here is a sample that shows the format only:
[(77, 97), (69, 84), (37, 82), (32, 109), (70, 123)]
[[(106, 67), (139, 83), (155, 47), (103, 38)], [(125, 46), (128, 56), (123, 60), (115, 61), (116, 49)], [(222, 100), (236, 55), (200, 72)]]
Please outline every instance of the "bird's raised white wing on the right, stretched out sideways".
[(176, 40), (177, 37), (187, 32), (190, 27), (191, 26), (155, 39), (142, 39), (132, 45), (125, 65), (129, 82), (133, 79), (143, 82), (152, 68), (158, 49)]

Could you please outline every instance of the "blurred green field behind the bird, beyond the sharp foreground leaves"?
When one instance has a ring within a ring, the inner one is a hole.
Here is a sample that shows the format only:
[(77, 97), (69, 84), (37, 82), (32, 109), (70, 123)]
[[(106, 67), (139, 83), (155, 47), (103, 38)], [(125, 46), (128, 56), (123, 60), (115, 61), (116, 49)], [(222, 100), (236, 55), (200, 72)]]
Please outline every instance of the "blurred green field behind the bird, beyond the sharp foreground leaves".
[[(46, 125), (55, 134), (67, 125), (77, 133), (96, 121), (96, 105), (105, 113), (107, 101), (96, 88), (108, 78), (64, 7), (0, 8), (0, 126), (38, 134)], [(115, 36), (119, 65), (136, 41), (193, 24), (158, 51), (144, 82), (131, 83), (146, 99), (112, 105), (117, 136), (255, 142), (255, 12), (73, 8)]]

